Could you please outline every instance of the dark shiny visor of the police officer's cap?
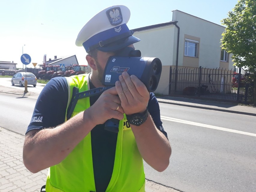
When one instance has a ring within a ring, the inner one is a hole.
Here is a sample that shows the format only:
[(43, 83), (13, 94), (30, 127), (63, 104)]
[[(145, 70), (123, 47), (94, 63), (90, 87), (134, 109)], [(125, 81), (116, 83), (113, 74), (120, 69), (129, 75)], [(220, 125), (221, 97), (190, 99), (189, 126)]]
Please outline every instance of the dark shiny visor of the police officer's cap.
[(96, 49), (102, 52), (112, 52), (127, 47), (133, 43), (137, 43), (139, 41), (139, 38), (131, 35), (129, 37), (114, 41), (113, 43), (104, 45), (103, 47), (97, 47)]

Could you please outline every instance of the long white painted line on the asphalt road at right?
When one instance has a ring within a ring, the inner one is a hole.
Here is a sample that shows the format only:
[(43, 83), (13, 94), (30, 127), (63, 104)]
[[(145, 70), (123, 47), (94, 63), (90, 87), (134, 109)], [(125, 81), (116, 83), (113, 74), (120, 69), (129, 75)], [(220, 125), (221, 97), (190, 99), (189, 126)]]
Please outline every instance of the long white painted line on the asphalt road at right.
[(231, 132), (231, 133), (239, 133), (239, 134), (243, 134), (243, 135), (249, 135), (249, 136), (256, 137), (256, 134), (254, 134), (254, 133), (248, 133), (248, 132), (244, 132), (244, 131), (227, 129), (224, 127), (207, 125), (207, 124), (203, 124), (203, 123), (196, 123), (193, 121), (187, 121), (187, 120), (183, 120), (183, 119), (176, 119), (176, 118), (166, 117), (166, 116), (161, 116), (161, 119), (167, 120), (167, 121), (173, 121), (173, 122), (177, 122), (177, 123), (184, 123), (184, 124), (189, 124), (189, 125), (195, 125), (195, 126), (206, 127), (206, 128), (210, 128), (210, 129), (216, 129), (216, 130), (227, 131), (227, 132)]

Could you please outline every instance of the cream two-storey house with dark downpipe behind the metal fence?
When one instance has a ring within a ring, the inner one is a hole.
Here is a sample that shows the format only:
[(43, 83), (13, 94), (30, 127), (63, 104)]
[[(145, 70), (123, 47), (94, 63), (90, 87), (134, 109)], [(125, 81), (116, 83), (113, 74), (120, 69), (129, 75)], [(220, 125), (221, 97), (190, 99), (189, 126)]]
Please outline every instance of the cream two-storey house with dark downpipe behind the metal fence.
[(172, 21), (134, 30), (142, 56), (158, 57), (162, 75), (155, 93), (169, 94), (170, 69), (234, 69), (230, 55), (221, 50), (225, 27), (182, 11), (172, 11)]

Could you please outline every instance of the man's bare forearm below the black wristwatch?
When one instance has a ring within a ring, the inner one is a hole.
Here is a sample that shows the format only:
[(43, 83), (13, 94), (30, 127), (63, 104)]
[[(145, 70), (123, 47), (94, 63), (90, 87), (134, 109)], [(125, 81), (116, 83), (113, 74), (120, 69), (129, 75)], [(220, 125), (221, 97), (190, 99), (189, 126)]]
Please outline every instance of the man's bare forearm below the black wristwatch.
[(141, 126), (132, 125), (132, 130), (142, 158), (157, 171), (164, 171), (169, 165), (171, 145), (152, 118), (149, 116)]

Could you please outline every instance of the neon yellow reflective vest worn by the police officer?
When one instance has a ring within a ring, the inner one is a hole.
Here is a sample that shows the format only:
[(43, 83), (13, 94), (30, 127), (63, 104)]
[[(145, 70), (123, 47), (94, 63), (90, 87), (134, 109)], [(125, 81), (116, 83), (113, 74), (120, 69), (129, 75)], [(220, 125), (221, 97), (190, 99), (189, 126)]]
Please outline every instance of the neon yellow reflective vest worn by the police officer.
[[(69, 106), (73, 87), (79, 92), (89, 90), (89, 74), (75, 75), (67, 78), (69, 86)], [(90, 107), (90, 98), (79, 99), (72, 117)], [(67, 110), (66, 110), (67, 116)], [(66, 118), (67, 119), (67, 118)], [(124, 123), (125, 122), (125, 123)], [(66, 141), (63, 141), (66, 142)], [(73, 149), (61, 163), (49, 168), (47, 192), (90, 192), (96, 191), (93, 175), (91, 134)], [(136, 145), (130, 126), (127, 127), (126, 116), (120, 120), (119, 132), (111, 180), (106, 192), (144, 192), (145, 173), (143, 160)]]

